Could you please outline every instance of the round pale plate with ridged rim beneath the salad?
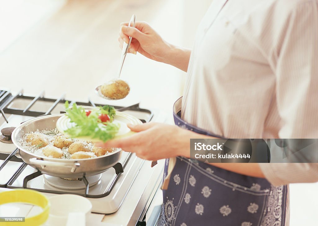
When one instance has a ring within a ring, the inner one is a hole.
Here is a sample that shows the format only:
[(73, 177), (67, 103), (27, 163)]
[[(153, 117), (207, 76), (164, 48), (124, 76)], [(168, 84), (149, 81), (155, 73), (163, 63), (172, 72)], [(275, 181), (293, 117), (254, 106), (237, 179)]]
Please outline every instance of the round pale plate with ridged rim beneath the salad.
[[(99, 109), (96, 107), (86, 107), (86, 106), (81, 106), (81, 107), (84, 108), (85, 110)], [(142, 124), (142, 121), (140, 121), (138, 118), (121, 111), (116, 111), (116, 115), (114, 117), (113, 122), (120, 125), (119, 131), (115, 135), (114, 139), (127, 137), (135, 133), (127, 127), (127, 124), (133, 124), (133, 125)], [(71, 123), (70, 118), (67, 117), (66, 115), (63, 115), (62, 117), (60, 117), (58, 121), (56, 122), (56, 128), (61, 133), (65, 134), (66, 136), (69, 136), (69, 135), (65, 131), (69, 128), (74, 127), (75, 125), (76, 125), (75, 123)], [(76, 137), (76, 139), (92, 141), (92, 142), (101, 142), (100, 139), (91, 138), (91, 137)]]

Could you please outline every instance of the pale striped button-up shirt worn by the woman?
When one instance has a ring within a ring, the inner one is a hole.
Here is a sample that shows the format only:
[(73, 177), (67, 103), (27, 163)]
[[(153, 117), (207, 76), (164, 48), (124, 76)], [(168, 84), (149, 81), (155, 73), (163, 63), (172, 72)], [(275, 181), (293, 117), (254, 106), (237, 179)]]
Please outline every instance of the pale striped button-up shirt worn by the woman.
[[(197, 30), (183, 119), (226, 138), (318, 138), (318, 1), (225, 2)], [(318, 180), (318, 164), (260, 166), (273, 185)]]

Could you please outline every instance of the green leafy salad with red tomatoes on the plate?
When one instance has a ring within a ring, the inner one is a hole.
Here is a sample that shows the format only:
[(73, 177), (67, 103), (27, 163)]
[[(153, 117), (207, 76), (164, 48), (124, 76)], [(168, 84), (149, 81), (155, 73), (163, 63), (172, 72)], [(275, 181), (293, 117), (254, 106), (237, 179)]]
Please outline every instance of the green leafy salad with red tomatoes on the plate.
[(65, 109), (66, 116), (76, 124), (65, 131), (72, 138), (90, 137), (106, 142), (113, 139), (119, 131), (120, 126), (113, 122), (116, 110), (112, 106), (105, 105), (99, 109), (87, 110), (77, 106), (76, 103), (69, 108), (69, 103), (66, 101)]

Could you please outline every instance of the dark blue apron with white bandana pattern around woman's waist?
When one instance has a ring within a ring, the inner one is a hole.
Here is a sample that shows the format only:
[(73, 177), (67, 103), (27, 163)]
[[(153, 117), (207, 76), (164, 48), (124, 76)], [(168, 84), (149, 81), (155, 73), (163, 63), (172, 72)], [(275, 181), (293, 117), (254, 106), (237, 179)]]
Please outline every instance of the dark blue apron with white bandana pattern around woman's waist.
[[(180, 117), (181, 98), (174, 104), (175, 124), (218, 137)], [(164, 179), (168, 173), (166, 160)], [(285, 226), (287, 186), (233, 173), (194, 159), (177, 157), (157, 225)]]

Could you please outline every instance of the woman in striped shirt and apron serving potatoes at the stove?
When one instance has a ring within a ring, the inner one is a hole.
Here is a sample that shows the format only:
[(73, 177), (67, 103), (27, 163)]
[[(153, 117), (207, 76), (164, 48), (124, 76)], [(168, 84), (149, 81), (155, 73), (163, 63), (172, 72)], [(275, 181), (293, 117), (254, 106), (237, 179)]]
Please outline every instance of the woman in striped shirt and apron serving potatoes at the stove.
[(317, 138), (318, 2), (214, 0), (192, 50), (165, 42), (144, 22), (127, 25), (121, 46), (131, 36), (130, 53), (188, 74), (174, 105), (182, 128), (130, 126), (138, 133), (103, 145), (171, 159), (158, 224), (288, 225), (287, 184), (317, 181), (317, 164), (195, 162), (190, 138)]

